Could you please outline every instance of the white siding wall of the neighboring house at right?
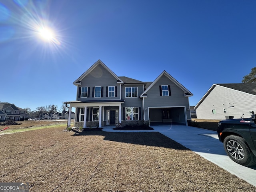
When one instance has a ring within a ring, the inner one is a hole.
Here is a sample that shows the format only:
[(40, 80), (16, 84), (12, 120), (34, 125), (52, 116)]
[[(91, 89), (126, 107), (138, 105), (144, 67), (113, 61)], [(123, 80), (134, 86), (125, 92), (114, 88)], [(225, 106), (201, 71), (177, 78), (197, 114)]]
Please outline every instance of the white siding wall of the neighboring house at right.
[[(216, 86), (198, 106), (196, 115), (198, 119), (222, 120), (227, 119), (228, 116), (240, 118), (242, 114), (244, 118), (249, 118), (250, 111), (256, 112), (255, 98), (255, 95)], [(226, 113), (224, 113), (224, 108), (226, 108)], [(214, 109), (216, 114), (212, 114)]]

